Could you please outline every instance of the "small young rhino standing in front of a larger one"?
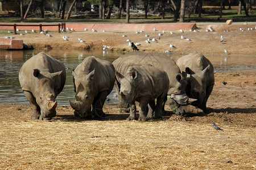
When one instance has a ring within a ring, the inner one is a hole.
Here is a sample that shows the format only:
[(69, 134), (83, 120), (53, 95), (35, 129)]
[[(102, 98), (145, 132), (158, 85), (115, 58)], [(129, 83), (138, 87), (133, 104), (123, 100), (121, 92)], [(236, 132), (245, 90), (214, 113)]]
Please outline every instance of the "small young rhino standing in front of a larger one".
[[(153, 117), (160, 118), (164, 114), (163, 105), (166, 101), (164, 97), (169, 89), (169, 79), (165, 71), (151, 65), (142, 65), (128, 67), (125, 75), (117, 71), (115, 75), (121, 84), (120, 97), (130, 104), (130, 116), (127, 120), (135, 119), (135, 101), (139, 102), (138, 120), (140, 121), (146, 121)], [(155, 99), (157, 99), (156, 104)]]

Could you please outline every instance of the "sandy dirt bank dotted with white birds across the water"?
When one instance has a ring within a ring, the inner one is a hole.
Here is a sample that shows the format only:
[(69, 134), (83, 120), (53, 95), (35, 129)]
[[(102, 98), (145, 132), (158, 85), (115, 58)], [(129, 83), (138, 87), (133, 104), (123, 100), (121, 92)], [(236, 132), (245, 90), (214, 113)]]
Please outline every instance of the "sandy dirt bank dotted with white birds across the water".
[[(181, 33), (174, 31), (175, 34), (171, 35), (170, 31), (164, 30), (166, 33), (159, 32), (147, 33), (149, 38), (159, 39), (158, 42), (152, 42), (147, 44), (145, 40), (146, 32), (136, 34), (135, 32), (67, 32), (57, 33), (49, 32), (52, 37), (46, 35), (40, 35), (39, 33), (26, 33), (24, 36), (16, 35), (16, 39), (22, 39), (23, 43), (33, 48), (76, 48), (76, 49), (98, 49), (102, 50), (103, 45), (112, 46), (109, 50), (121, 50), (121, 51), (132, 51), (127, 39), (130, 39), (134, 44), (136, 42), (141, 43), (138, 46), (139, 50), (145, 52), (159, 52), (164, 53), (166, 50), (171, 50), (173, 53), (184, 53), (188, 54), (191, 52), (199, 52), (204, 54), (225, 54), (224, 49), (228, 50), (230, 54), (256, 54), (256, 30), (255, 25), (245, 24), (197, 24), (199, 32), (185, 31)], [(205, 32), (205, 30), (211, 27), (214, 32)], [(240, 31), (240, 28), (245, 31)], [(253, 28), (254, 31), (247, 31), (247, 28)], [(229, 32), (224, 32), (228, 29)], [(139, 31), (139, 30), (138, 30)], [(126, 35), (127, 37), (122, 37)], [(191, 39), (186, 41), (181, 39), (181, 35)], [(220, 36), (224, 37), (224, 42), (220, 42)], [(6, 36), (6, 35), (2, 35)], [(0, 37), (2, 37), (0, 35)], [(69, 41), (63, 40), (63, 36), (68, 36)], [(80, 42), (78, 38), (81, 38), (85, 42)], [(170, 48), (170, 44), (176, 46), (176, 48)]]

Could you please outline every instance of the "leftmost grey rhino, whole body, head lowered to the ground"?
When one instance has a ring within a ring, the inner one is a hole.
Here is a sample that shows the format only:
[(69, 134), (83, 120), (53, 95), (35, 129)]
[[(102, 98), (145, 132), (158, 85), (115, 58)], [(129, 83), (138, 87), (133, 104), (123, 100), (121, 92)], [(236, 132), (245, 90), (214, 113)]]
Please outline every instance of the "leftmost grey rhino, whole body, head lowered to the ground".
[(63, 63), (41, 52), (28, 59), (19, 71), (19, 82), (32, 105), (32, 119), (51, 120), (56, 116), (56, 96), (65, 85)]

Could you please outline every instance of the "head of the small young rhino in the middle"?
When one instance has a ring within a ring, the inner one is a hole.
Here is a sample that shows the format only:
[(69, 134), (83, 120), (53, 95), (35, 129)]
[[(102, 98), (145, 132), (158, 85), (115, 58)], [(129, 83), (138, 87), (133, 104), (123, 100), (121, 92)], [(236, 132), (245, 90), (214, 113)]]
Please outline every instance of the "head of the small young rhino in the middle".
[(119, 95), (121, 100), (125, 101), (125, 103), (130, 104), (135, 99), (135, 92), (136, 92), (136, 86), (135, 86), (135, 79), (138, 76), (138, 73), (136, 70), (133, 69), (133, 67), (129, 68), (127, 70), (127, 73), (125, 76), (115, 71), (115, 76), (119, 79), (119, 82), (121, 84)]

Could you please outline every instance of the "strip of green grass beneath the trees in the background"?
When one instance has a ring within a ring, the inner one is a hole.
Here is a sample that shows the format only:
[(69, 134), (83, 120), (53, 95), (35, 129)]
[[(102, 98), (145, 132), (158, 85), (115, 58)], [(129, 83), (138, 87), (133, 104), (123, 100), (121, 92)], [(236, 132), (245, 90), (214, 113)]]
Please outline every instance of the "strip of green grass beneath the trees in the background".
[[(233, 22), (255, 22), (256, 21), (256, 9), (253, 9), (249, 12), (249, 17), (246, 17), (244, 11), (242, 10), (242, 15), (237, 15), (237, 7), (232, 7), (232, 10), (223, 10), (222, 18), (219, 14), (219, 7), (205, 7), (206, 14), (201, 14), (201, 18), (198, 17), (198, 14), (192, 14), (191, 18), (188, 19), (188, 14), (185, 15), (185, 22), (190, 22), (191, 20), (195, 22), (225, 22), (227, 19), (233, 19)], [(1, 16), (1, 15), (0, 15)], [(148, 16), (147, 19), (144, 19), (144, 16), (130, 18), (130, 23), (173, 23), (174, 15), (166, 15), (165, 19), (161, 19), (161, 16)], [(97, 19), (97, 18), (71, 18), (69, 20), (59, 19), (59, 18), (28, 18), (26, 20), (21, 20), (20, 18), (0, 18), (2, 23), (125, 23), (125, 18), (121, 19)]]

